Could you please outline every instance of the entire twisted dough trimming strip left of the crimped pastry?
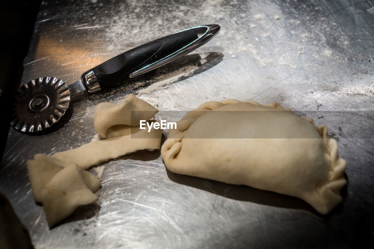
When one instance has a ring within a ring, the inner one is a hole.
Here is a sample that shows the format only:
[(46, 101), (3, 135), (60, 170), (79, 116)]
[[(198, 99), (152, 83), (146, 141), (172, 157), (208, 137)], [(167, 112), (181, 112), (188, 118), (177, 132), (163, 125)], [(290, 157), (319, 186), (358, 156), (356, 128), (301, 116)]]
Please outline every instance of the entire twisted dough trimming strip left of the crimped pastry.
[(162, 129), (148, 132), (139, 126), (140, 120), (148, 121), (157, 112), (133, 94), (118, 105), (101, 103), (95, 109), (94, 126), (99, 135), (108, 139), (52, 156), (36, 154), (33, 160), (27, 160), (34, 199), (43, 203), (49, 227), (78, 206), (97, 200), (93, 192), (100, 187), (100, 180), (83, 169), (137, 150), (160, 149)]

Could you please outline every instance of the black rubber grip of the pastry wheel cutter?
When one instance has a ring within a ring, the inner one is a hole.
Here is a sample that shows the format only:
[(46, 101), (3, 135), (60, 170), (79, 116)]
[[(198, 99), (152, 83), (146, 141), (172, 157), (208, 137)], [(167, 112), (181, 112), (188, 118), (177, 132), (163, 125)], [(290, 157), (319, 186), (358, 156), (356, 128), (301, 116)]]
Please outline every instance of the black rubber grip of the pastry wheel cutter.
[(197, 38), (196, 31), (190, 29), (142, 44), (86, 71), (82, 74), (82, 81), (89, 71), (93, 71), (101, 89), (114, 87), (129, 79), (131, 73), (165, 58)]

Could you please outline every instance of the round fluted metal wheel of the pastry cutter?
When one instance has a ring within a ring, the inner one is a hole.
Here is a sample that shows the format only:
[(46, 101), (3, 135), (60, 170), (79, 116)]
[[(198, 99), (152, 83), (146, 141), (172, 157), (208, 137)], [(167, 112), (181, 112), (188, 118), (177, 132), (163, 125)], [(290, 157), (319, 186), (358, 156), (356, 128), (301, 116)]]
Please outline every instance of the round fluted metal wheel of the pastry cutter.
[(10, 124), (21, 132), (39, 132), (56, 123), (69, 107), (70, 91), (57, 78), (44, 77), (24, 84), (16, 92)]

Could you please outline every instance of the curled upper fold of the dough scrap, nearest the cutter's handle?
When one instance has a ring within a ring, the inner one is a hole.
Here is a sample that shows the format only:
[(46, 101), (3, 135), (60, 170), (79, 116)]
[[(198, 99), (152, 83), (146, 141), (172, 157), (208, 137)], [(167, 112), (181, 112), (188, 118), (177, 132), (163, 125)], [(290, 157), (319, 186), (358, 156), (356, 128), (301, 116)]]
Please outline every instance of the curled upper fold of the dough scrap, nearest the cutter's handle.
[(129, 94), (119, 104), (102, 102), (96, 105), (93, 125), (103, 138), (113, 138), (134, 133), (131, 126), (139, 126), (140, 120), (150, 120), (159, 110), (144, 100)]

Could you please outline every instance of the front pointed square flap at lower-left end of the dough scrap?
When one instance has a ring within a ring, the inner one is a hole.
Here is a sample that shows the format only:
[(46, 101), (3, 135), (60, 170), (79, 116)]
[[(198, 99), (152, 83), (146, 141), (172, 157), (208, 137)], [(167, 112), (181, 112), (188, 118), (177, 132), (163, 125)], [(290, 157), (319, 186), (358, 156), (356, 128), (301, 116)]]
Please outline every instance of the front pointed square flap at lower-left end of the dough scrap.
[(78, 165), (60, 170), (41, 189), (43, 208), (49, 227), (62, 221), (78, 206), (96, 202), (98, 197), (87, 187), (83, 172)]

